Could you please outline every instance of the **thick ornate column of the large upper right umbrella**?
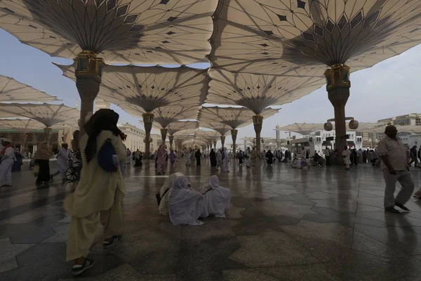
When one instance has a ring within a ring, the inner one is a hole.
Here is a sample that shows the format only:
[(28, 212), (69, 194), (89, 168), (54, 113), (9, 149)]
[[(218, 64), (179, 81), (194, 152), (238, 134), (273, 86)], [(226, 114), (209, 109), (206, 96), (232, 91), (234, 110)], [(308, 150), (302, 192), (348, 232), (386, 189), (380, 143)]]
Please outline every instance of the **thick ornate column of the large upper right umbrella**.
[[(326, 76), (326, 89), (328, 91), (328, 98), (333, 105), (335, 112), (335, 149), (338, 150), (339, 155), (347, 145), (347, 139), (341, 136), (347, 134), (347, 124), (345, 123), (345, 105), (349, 98), (349, 88), (351, 82), (349, 81), (349, 67), (347, 65), (333, 65), (324, 73)], [(340, 157), (341, 159), (341, 157)]]

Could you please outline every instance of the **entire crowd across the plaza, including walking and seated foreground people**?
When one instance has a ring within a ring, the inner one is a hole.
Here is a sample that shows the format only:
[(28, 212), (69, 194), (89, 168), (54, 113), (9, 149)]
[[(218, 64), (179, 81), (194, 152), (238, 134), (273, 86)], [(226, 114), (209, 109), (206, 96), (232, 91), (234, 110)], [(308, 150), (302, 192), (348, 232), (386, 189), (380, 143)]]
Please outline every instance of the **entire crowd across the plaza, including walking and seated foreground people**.
[[(81, 162), (81, 176), (73, 193), (64, 200), (64, 207), (72, 218), (69, 224), (67, 238), (67, 261), (73, 261), (72, 273), (79, 275), (91, 268), (94, 264), (88, 259), (88, 254), (95, 239), (99, 224), (104, 226), (103, 247), (114, 246), (123, 239), (123, 209), (122, 202), (125, 192), (124, 171), (126, 166), (134, 162), (134, 166), (142, 166), (142, 152), (131, 152), (124, 145), (126, 135), (119, 130), (117, 122), (119, 115), (113, 110), (101, 109), (95, 112), (86, 122), (86, 134), (82, 136), (79, 145), (79, 154), (73, 154), (67, 143), (62, 144), (58, 150), (58, 171), (50, 173), (49, 160), (53, 152), (46, 141), (39, 143), (33, 155), (38, 166), (36, 183), (52, 181), (54, 176), (64, 177), (69, 162)], [(409, 211), (405, 207), (413, 195), (414, 183), (410, 176), (410, 164), (417, 163), (414, 157), (420, 152), (416, 148), (408, 150), (396, 136), (394, 126), (387, 126), (386, 137), (380, 141), (375, 150), (355, 150), (345, 146), (342, 152), (345, 169), (350, 165), (371, 162), (377, 165), (381, 159), (381, 169), (385, 178), (385, 210), (399, 213), (395, 207)], [(22, 161), (22, 155), (14, 150), (11, 141), (4, 139), (0, 150), (0, 184), (11, 185), (11, 171), (18, 169), (15, 162)], [(238, 160), (240, 166), (248, 168), (266, 159), (267, 166), (275, 162), (292, 162), (293, 167), (305, 168), (314, 164), (330, 165), (335, 162), (338, 150), (331, 151), (326, 148), (323, 152), (314, 152), (302, 148), (298, 153), (285, 150), (263, 151), (260, 154), (255, 148), (241, 149), (234, 155), (223, 147), (216, 152), (201, 152), (200, 149), (190, 148), (184, 153), (170, 150), (161, 144), (154, 153), (156, 174), (166, 174), (168, 163), (174, 167), (180, 157), (185, 157), (185, 165), (201, 166), (202, 158), (209, 158), (210, 169), (213, 171), (229, 172), (229, 162)], [(19, 156), (20, 155), (20, 156)], [(79, 155), (79, 157), (78, 157)], [(15, 166), (15, 168), (13, 168)], [(402, 188), (394, 197), (396, 182)], [(421, 199), (421, 190), (415, 192), (413, 197)], [(168, 216), (174, 225), (199, 226), (210, 216), (225, 217), (230, 206), (231, 190), (220, 185), (218, 176), (210, 176), (203, 186), (192, 186), (188, 178), (182, 173), (174, 173), (166, 178), (161, 190), (156, 194), (158, 212)]]

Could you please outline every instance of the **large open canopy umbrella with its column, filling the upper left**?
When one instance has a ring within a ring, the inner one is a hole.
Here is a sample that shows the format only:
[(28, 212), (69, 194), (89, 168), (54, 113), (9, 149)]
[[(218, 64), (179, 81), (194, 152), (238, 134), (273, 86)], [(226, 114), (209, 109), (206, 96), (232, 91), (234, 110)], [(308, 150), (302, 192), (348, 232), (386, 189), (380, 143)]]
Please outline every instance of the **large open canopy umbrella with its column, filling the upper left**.
[[(218, 0), (1, 0), (0, 28), (53, 57), (74, 59), (81, 134), (104, 63), (206, 62)], [(147, 140), (149, 142), (149, 139)]]

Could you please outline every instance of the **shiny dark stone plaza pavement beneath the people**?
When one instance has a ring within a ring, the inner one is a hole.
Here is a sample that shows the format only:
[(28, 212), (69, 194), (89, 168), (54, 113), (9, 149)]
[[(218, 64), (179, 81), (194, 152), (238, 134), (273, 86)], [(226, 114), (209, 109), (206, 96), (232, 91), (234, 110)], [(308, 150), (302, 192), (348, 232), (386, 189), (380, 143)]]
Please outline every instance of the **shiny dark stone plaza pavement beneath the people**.
[[(182, 161), (167, 175), (180, 171), (199, 188), (211, 175), (203, 162), (186, 168)], [(132, 167), (124, 241), (104, 251), (99, 232), (95, 266), (76, 280), (421, 280), (421, 202), (408, 202), (407, 214), (385, 213), (380, 169), (233, 164), (229, 174), (216, 172), (232, 190), (227, 218), (203, 226), (173, 226), (160, 216), (155, 194), (165, 176), (155, 176), (154, 162)], [(420, 173), (412, 171), (415, 188)], [(0, 280), (74, 280), (62, 200), (75, 186), (34, 181), (26, 163), (13, 187), (0, 188)]]

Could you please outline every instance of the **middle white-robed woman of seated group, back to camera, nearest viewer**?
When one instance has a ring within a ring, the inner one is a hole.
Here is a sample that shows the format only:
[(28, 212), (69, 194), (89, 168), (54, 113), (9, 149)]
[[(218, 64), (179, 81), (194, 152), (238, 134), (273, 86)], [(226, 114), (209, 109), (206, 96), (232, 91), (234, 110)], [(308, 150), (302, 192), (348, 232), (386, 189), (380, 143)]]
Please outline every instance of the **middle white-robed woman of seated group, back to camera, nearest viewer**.
[(189, 187), (185, 176), (175, 178), (168, 198), (170, 220), (175, 225), (200, 226), (199, 218), (206, 218), (209, 213), (203, 195)]

